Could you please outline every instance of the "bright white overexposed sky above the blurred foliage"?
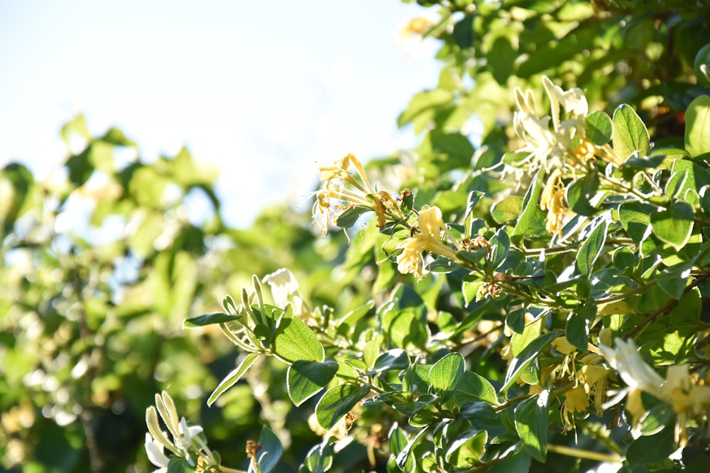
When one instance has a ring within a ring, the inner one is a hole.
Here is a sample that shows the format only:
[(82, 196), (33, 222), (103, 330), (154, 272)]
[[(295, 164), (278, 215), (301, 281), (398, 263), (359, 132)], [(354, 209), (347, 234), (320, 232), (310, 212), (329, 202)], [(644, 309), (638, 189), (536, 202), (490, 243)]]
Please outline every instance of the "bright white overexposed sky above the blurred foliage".
[[(411, 146), (395, 120), (434, 87), (396, 30), (422, 13), (398, 0), (31, 0), (0, 2), (0, 166), (40, 175), (83, 112), (153, 160), (187, 145), (223, 169), (226, 219), (303, 201), (317, 163)], [(310, 207), (310, 204), (307, 206)]]

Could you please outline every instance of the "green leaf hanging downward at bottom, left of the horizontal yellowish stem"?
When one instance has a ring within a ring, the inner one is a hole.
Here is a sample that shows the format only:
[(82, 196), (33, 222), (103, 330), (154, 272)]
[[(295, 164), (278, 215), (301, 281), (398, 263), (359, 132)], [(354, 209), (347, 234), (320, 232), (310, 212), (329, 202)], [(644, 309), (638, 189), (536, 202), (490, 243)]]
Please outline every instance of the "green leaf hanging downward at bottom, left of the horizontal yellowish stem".
[(547, 458), (547, 421), (550, 409), (547, 407), (549, 391), (521, 401), (515, 406), (515, 430), (520, 435), (523, 448), (532, 458), (545, 463)]

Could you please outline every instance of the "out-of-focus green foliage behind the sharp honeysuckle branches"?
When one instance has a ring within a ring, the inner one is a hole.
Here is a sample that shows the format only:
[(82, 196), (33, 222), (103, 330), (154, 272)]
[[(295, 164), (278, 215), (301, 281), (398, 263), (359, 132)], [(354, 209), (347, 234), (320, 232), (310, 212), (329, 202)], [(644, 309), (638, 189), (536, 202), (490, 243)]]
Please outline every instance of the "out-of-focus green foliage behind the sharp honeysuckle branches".
[[(705, 0), (417, 3), (422, 17), (403, 33), (437, 40), (439, 82), (403, 104), (399, 124), (414, 128), (417, 148), (371, 160), (368, 175), (388, 189), (415, 189), (444, 221), (463, 215), (470, 191), (510, 187), (483, 171), (520, 148), (510, 129), (513, 89), (533, 89), (545, 103), (542, 74), (581, 87), (593, 108), (632, 105), (657, 145), (682, 147), (683, 111), (710, 93), (699, 72), (710, 57)], [(182, 321), (219, 310), (251, 274), (280, 267), (312, 306), (345, 313), (382, 301), (410, 277), (386, 261), (377, 229), (354, 226), (355, 244), (344, 233), (323, 239), (307, 212), (285, 207), (228, 228), (222, 207), (259, 206), (259, 196), (220, 202), (219, 170), (188, 150), (143, 157), (120, 130), (90, 135), (82, 116), (61, 133), (72, 151), (47, 179), (18, 163), (0, 172), (0, 467), (149, 471), (144, 412), (169, 389), (225, 464), (246, 467), (246, 440), (266, 419), (290, 434), (278, 471), (297, 471), (319, 438), (307, 425), (312, 406), (295, 408), (285, 393), (285, 367), (250, 374), (207, 408), (236, 352), (217, 330), (184, 331)], [(491, 203), (484, 197), (476, 216), (486, 218)], [(417, 292), (461, 318), (466, 304), (448, 298), (443, 282), (426, 279)], [(366, 469), (366, 446), (350, 448), (352, 464), (341, 471)], [(568, 471), (567, 457), (558, 458), (545, 469)]]

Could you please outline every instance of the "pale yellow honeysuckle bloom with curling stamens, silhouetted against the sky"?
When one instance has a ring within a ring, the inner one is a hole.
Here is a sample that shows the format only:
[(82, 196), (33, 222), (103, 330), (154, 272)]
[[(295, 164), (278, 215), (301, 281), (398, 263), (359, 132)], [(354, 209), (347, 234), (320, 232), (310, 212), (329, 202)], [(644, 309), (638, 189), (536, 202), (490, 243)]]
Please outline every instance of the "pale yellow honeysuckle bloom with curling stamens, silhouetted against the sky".
[[(356, 170), (359, 180), (351, 174), (351, 167)], [(354, 206), (370, 208), (375, 212), (377, 226), (380, 228), (385, 226), (386, 215), (393, 209), (400, 218), (404, 217), (397, 201), (388, 191), (373, 189), (361, 162), (354, 155), (347, 155), (332, 166), (320, 167), (319, 171), (322, 185), (315, 193), (313, 221), (320, 226), (323, 236), (328, 233), (332, 210), (344, 211)], [(331, 199), (337, 199), (346, 205), (332, 206)]]

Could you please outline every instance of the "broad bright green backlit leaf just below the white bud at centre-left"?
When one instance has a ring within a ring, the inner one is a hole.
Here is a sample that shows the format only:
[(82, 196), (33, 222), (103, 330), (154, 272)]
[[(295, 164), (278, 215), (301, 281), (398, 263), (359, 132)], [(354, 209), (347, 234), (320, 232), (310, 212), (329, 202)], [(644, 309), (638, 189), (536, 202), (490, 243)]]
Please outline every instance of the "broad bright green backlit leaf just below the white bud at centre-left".
[[(290, 309), (290, 306), (288, 308)], [(290, 314), (290, 310), (284, 314), (276, 329), (272, 346), (274, 355), (288, 362), (296, 360), (322, 362), (325, 358), (323, 345), (304, 321)]]

